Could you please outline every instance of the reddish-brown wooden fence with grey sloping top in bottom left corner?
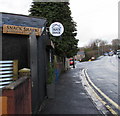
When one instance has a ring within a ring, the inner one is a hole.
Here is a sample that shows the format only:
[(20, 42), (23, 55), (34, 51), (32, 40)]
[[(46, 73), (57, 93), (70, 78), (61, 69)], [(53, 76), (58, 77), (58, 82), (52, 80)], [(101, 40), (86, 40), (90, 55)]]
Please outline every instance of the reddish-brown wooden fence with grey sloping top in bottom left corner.
[(31, 80), (21, 77), (2, 90), (0, 114), (31, 114)]

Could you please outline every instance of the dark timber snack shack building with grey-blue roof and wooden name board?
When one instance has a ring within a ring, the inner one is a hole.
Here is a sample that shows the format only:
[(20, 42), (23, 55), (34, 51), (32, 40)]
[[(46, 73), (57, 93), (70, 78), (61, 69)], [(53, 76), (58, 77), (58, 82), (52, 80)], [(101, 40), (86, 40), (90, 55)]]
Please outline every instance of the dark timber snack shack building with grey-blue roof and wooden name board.
[[(46, 96), (49, 60), (46, 19), (2, 13), (2, 28), (2, 60), (18, 60), (19, 69), (31, 69), (34, 114)], [(35, 34), (30, 35), (31, 30)]]

